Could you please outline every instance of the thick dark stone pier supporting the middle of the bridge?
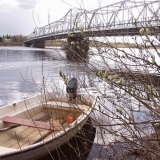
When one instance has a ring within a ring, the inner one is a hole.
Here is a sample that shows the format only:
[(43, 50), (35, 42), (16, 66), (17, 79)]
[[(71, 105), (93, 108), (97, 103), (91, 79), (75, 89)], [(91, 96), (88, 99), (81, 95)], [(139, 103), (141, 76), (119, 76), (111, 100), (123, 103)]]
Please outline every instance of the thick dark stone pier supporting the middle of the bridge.
[(84, 36), (83, 34), (72, 34), (67, 37), (67, 43), (67, 58), (87, 58), (89, 50), (88, 37)]

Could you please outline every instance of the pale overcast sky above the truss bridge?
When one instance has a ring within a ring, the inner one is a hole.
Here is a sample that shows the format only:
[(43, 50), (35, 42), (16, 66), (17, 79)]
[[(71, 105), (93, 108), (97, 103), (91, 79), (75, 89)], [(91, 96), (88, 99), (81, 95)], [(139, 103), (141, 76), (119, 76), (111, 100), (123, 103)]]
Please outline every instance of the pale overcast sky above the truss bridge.
[(0, 35), (29, 35), (70, 8), (95, 9), (121, 0), (0, 0)]

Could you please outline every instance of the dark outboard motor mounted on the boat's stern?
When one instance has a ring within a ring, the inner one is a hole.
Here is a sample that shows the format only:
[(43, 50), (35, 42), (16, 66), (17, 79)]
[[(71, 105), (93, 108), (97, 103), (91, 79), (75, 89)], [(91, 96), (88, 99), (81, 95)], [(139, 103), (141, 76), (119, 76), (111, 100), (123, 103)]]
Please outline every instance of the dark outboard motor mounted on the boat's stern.
[(77, 97), (77, 86), (78, 86), (78, 81), (77, 81), (76, 78), (71, 78), (68, 81), (66, 91), (69, 94), (69, 100), (76, 99), (76, 97)]

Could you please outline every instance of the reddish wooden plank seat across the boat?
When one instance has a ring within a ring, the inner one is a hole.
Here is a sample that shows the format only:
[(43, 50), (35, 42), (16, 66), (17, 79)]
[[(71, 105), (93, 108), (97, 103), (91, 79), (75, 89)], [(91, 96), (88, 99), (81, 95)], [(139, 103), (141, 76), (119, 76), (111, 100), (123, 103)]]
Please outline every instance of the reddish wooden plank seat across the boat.
[(17, 117), (10, 117), (6, 116), (1, 119), (3, 122), (7, 123), (13, 123), (13, 124), (18, 124), (22, 126), (28, 126), (28, 127), (33, 127), (33, 128), (41, 128), (41, 129), (47, 129), (47, 130), (54, 130), (54, 131), (59, 131), (63, 130), (64, 127), (60, 124), (48, 124), (46, 122), (42, 121), (32, 121), (29, 119), (23, 119), (23, 118), (17, 118)]

